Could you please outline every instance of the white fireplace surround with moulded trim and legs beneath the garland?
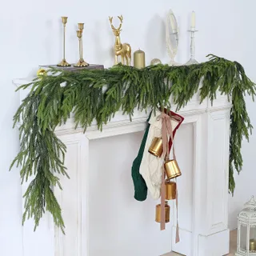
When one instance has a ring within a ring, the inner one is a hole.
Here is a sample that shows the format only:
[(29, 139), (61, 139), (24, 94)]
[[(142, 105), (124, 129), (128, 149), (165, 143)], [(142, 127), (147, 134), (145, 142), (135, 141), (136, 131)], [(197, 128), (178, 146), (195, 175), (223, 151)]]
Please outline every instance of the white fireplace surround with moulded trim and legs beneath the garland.
[[(30, 79), (14, 79), (13, 82), (15, 86), (20, 86), (30, 81)], [(29, 90), (28, 88), (20, 91), (20, 101), (26, 97)], [(184, 210), (186, 205), (182, 206), (182, 209), (179, 210), (181, 242), (175, 244), (174, 235), (171, 235), (172, 241), (170, 241), (170, 249), (180, 254), (187, 256), (222, 256), (229, 252), (227, 218), (230, 107), (231, 104), (226, 96), (218, 94), (213, 104), (209, 99), (200, 104), (199, 94), (195, 94), (190, 102), (178, 112), (185, 118), (182, 126), (191, 126), (192, 138), (190, 139), (191, 143), (193, 143), (193, 152), (190, 152), (193, 160), (190, 167), (191, 173), (186, 175), (186, 170), (182, 170), (183, 180), (190, 182), (191, 191), (188, 190), (188, 193), (192, 192), (192, 199), (190, 200), (191, 209), (187, 212), (191, 210), (192, 216), (187, 216), (186, 210)], [(175, 106), (173, 110), (175, 110)], [(65, 182), (63, 191), (55, 190), (58, 202), (60, 202), (63, 209), (66, 236), (54, 227), (53, 220), (49, 214), (46, 214), (42, 219), (35, 233), (33, 232), (34, 222), (27, 221), (23, 226), (23, 256), (102, 255), (90, 254), (90, 141), (142, 131), (146, 127), (148, 114), (149, 112), (135, 110), (133, 120), (130, 122), (129, 116), (118, 112), (106, 126), (103, 126), (102, 132), (98, 131), (95, 122), (88, 127), (85, 134), (83, 134), (81, 127), (74, 130), (72, 116), (65, 125), (58, 126), (56, 134), (67, 146), (67, 171), (70, 174), (71, 170), (76, 170), (72, 172), (70, 180), (66, 179), (64, 181), (62, 178), (62, 181)], [(176, 140), (177, 144), (178, 142), (180, 141)], [(115, 153), (113, 152), (113, 154)], [(180, 160), (178, 162), (181, 165), (183, 162), (186, 164), (186, 157), (180, 157), (179, 155), (178, 159)], [(130, 162), (131, 165), (132, 162)], [(22, 185), (22, 193), (25, 192), (26, 186), (27, 184)], [(186, 193), (184, 191), (186, 192), (187, 187), (179, 186), (178, 183), (178, 188), (179, 191), (183, 191), (179, 201), (181, 203), (182, 201), (185, 202), (184, 194)], [(133, 195), (130, 196), (132, 197)], [(171, 204), (171, 206), (174, 206), (174, 204)], [(172, 218), (174, 218), (174, 212), (172, 213)], [(183, 222), (186, 218), (190, 219), (190, 225), (186, 225), (186, 221)], [(154, 219), (151, 222), (154, 222)], [(175, 234), (175, 223), (174, 219), (171, 223), (172, 228), (169, 227), (170, 234)], [(122, 232), (126, 232), (126, 230)], [(161, 231), (158, 230), (156, 232)], [(164, 235), (167, 234), (165, 233)], [(145, 250), (145, 255), (140, 253), (133, 254), (133, 256), (158, 256), (159, 254), (167, 253), (168, 251), (162, 251), (161, 248), (158, 249), (158, 254), (151, 253), (151, 251), (156, 251), (152, 248), (161, 244), (161, 239), (162, 236), (158, 237), (158, 241), (155, 243), (149, 243), (148, 248)], [(69, 243), (70, 246), (73, 246), (72, 255), (70, 255), (71, 249), (66, 246)], [(212, 251), (209, 251), (209, 248)], [(138, 251), (142, 249), (138, 248)], [(104, 251), (104, 248), (102, 250)], [(121, 251), (118, 250), (116, 254), (104, 255), (118, 256), (121, 255)], [(126, 248), (123, 249), (122, 255), (128, 255), (126, 254)]]

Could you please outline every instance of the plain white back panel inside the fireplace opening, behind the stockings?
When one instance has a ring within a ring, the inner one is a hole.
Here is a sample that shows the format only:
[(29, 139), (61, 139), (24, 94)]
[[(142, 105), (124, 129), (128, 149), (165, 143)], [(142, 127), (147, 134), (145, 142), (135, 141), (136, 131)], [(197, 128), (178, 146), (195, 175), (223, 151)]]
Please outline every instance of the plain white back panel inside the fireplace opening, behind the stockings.
[(131, 164), (143, 132), (90, 141), (90, 254), (155, 256), (171, 250), (170, 223), (154, 222), (159, 201), (134, 199)]

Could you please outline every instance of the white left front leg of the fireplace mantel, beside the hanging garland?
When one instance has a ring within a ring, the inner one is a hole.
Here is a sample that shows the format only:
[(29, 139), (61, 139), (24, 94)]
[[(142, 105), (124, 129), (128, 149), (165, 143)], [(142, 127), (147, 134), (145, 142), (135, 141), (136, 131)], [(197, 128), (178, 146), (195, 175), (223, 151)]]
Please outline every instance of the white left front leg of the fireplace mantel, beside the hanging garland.
[(65, 166), (70, 178), (60, 176), (62, 189), (54, 193), (62, 207), (65, 220), (65, 235), (55, 229), (54, 256), (86, 255), (87, 243), (87, 188), (86, 161), (88, 158), (88, 139), (85, 134), (60, 136), (66, 144)]

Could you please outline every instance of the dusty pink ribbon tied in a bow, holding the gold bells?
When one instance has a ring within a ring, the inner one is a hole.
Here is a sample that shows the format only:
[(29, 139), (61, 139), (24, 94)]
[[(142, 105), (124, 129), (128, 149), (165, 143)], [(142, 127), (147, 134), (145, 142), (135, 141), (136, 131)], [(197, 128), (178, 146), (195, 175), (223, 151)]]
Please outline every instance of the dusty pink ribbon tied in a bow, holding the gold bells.
[[(162, 146), (163, 146), (163, 156), (165, 161), (170, 159), (170, 150), (168, 145), (168, 134), (170, 135), (170, 139), (173, 146), (173, 155), (174, 160), (176, 160), (175, 150), (174, 150), (174, 134), (171, 125), (171, 117), (168, 114), (165, 114), (162, 110), (162, 113), (158, 116), (158, 120), (162, 118)], [(165, 211), (165, 198), (166, 198), (166, 190), (165, 190), (165, 169), (164, 164), (162, 166), (162, 185), (161, 185), (161, 230), (165, 230), (166, 228), (166, 211)], [(177, 184), (176, 184), (177, 185)], [(179, 228), (178, 228), (178, 189), (176, 188), (176, 208), (177, 208), (177, 227), (176, 227), (176, 239), (175, 242), (179, 242)]]

